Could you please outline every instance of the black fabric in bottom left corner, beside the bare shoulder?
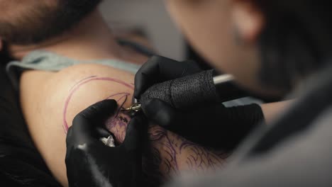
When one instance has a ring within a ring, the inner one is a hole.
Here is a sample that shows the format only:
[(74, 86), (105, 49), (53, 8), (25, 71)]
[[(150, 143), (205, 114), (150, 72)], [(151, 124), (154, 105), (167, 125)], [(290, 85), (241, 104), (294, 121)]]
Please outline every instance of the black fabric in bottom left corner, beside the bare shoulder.
[(60, 186), (33, 145), (4, 64), (0, 67), (0, 86), (1, 186)]

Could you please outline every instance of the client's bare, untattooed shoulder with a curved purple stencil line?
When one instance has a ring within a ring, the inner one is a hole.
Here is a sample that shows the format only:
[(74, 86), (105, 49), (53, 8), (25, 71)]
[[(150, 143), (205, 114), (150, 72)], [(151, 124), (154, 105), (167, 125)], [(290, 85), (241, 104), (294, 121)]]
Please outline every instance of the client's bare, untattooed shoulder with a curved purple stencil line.
[(133, 74), (99, 64), (78, 64), (60, 72), (30, 71), (21, 77), (21, 107), (29, 132), (52, 174), (66, 183), (65, 133), (77, 113), (114, 98), (128, 107)]

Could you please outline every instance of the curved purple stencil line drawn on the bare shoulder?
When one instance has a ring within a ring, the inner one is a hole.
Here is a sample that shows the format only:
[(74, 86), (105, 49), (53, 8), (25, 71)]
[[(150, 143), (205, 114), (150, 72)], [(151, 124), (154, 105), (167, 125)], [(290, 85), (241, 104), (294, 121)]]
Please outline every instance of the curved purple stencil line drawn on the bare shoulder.
[[(70, 90), (70, 95), (67, 97), (66, 101), (65, 101), (65, 106), (63, 109), (63, 113), (62, 113), (62, 118), (63, 118), (63, 125), (62, 128), (65, 131), (65, 133), (67, 134), (68, 131), (68, 123), (67, 123), (67, 108), (68, 105), (70, 103), (70, 100), (72, 99), (72, 96), (74, 95), (74, 93), (84, 84), (89, 83), (90, 81), (112, 81), (112, 82), (116, 82), (118, 84), (122, 84), (123, 86), (128, 87), (129, 89), (134, 89), (134, 87), (131, 84), (128, 84), (124, 81), (118, 80), (118, 79), (114, 79), (114, 78), (109, 78), (109, 77), (96, 77), (96, 76), (92, 76), (92, 77), (87, 77), (82, 79), (81, 81), (77, 82), (77, 84), (75, 84), (74, 86), (72, 86), (72, 89)], [(128, 93), (123, 93), (123, 94), (128, 94)], [(115, 94), (118, 95), (118, 94)], [(111, 96), (109, 96), (108, 98), (110, 98)]]

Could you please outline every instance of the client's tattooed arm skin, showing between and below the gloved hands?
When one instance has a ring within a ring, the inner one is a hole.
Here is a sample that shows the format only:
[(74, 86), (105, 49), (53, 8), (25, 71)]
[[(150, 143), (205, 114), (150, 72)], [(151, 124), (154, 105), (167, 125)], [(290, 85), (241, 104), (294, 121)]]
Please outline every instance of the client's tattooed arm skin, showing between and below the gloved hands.
[[(127, 115), (119, 113), (106, 123), (106, 128), (114, 132), (117, 143), (123, 142), (126, 136), (128, 120)], [(184, 171), (197, 174), (214, 171), (223, 165), (226, 157), (224, 152), (201, 147), (160, 126), (150, 125), (148, 142), (143, 150), (143, 170), (148, 182), (155, 186)]]

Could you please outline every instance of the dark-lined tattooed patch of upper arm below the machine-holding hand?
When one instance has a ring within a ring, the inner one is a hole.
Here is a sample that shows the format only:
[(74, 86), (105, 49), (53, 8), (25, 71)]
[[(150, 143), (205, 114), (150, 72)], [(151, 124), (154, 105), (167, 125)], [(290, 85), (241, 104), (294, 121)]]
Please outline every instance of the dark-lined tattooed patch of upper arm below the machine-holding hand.
[(228, 157), (224, 152), (201, 147), (157, 126), (150, 128), (149, 137), (152, 144), (159, 148), (157, 151), (163, 154), (160, 168), (165, 171), (165, 179), (184, 170), (202, 173), (220, 169)]

